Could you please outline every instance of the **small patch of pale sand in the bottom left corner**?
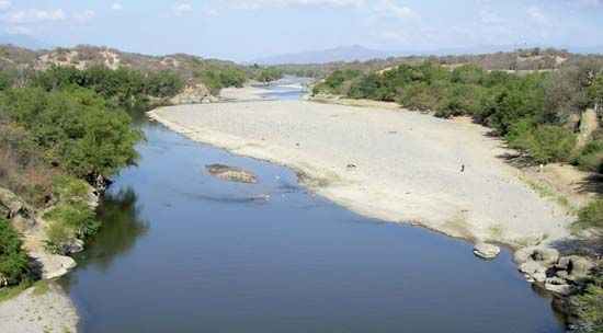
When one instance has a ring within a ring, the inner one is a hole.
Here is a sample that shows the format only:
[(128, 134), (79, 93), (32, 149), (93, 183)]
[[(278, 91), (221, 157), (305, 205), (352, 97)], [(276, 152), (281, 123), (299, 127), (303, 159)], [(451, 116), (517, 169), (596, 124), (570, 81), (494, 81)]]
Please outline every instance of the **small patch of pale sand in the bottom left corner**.
[(73, 302), (56, 284), (49, 290), (34, 295), (34, 288), (0, 302), (0, 332), (38, 333), (76, 332), (78, 312)]

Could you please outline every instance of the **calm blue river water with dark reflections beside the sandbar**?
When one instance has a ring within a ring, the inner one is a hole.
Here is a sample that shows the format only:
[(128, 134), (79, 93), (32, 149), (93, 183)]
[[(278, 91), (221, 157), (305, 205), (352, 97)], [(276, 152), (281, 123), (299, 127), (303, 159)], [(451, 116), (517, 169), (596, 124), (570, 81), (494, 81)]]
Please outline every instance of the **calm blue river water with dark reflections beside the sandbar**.
[[(467, 242), (317, 197), (292, 170), (137, 123), (141, 159), (64, 279), (83, 332), (564, 332), (509, 251), (481, 261)], [(213, 163), (261, 182), (216, 180)]]

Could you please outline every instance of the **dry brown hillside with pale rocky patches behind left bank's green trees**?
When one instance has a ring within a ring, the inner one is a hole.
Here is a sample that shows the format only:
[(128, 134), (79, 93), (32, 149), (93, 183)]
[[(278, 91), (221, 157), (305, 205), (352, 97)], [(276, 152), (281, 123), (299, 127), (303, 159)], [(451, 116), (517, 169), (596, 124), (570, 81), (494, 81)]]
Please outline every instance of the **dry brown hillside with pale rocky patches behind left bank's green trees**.
[(101, 66), (112, 70), (126, 68), (140, 73), (173, 72), (184, 81), (181, 94), (171, 100), (175, 104), (212, 100), (221, 88), (242, 87), (250, 80), (266, 82), (282, 76), (278, 70), (259, 66), (246, 67), (231, 61), (204, 59), (186, 54), (149, 56), (89, 45), (52, 50), (0, 46), (1, 70), (45, 71), (54, 66), (73, 67), (79, 70)]

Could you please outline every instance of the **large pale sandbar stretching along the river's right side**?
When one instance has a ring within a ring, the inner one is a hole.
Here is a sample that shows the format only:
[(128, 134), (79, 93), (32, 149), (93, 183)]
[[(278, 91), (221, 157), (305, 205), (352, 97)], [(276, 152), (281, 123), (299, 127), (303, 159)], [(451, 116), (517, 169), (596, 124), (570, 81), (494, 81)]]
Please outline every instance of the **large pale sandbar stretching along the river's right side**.
[(368, 217), (515, 246), (569, 236), (572, 216), (531, 190), (498, 158), (502, 143), (468, 120), (304, 101), (180, 105), (150, 116), (193, 140), (288, 165), (317, 194)]

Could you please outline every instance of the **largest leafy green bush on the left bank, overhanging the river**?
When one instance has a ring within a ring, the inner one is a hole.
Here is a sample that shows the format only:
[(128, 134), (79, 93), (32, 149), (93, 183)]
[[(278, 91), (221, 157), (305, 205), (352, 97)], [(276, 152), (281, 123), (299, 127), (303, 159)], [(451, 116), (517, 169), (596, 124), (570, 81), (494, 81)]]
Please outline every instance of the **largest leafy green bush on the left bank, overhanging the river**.
[(2, 112), (30, 133), (50, 165), (76, 177), (111, 176), (138, 158), (134, 145), (143, 134), (93, 92), (10, 89), (0, 94)]

